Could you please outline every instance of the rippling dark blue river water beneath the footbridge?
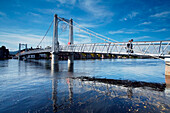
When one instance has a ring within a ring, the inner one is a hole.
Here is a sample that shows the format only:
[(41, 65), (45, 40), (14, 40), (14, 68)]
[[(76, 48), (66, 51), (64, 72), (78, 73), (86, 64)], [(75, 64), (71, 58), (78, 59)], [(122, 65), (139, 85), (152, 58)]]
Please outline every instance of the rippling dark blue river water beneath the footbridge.
[(170, 112), (158, 59), (0, 61), (0, 113)]

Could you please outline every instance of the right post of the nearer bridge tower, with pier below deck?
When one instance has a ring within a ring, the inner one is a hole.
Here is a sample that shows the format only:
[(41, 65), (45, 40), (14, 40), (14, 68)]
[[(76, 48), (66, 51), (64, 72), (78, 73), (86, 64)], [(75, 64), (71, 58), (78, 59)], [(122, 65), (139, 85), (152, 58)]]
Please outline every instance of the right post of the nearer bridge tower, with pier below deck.
[[(72, 44), (73, 44), (73, 19), (70, 19), (69, 21), (69, 45), (71, 46)], [(68, 66), (70, 67), (70, 64), (73, 64), (73, 62), (74, 62), (74, 55), (71, 52), (68, 56)]]

